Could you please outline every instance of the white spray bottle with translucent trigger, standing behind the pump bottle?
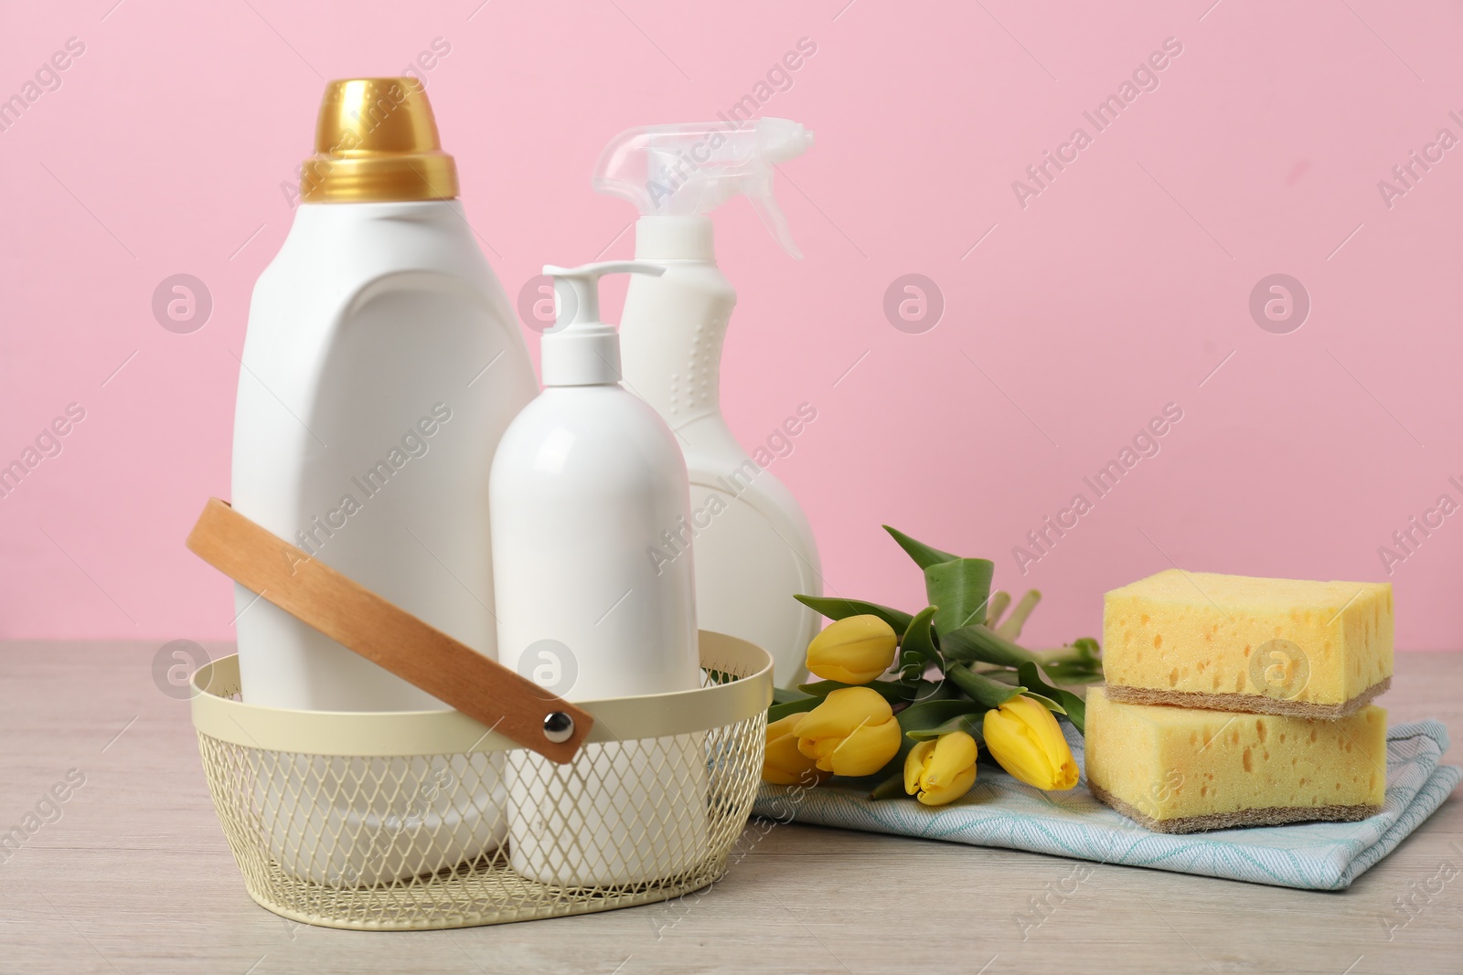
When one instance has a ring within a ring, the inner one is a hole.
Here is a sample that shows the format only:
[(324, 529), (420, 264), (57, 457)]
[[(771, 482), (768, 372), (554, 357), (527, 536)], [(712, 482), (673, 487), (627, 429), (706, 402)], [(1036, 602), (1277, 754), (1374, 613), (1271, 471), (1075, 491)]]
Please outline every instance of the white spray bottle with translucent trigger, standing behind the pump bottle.
[[(822, 595), (822, 570), (797, 498), (764, 469), (772, 455), (749, 456), (721, 417), (721, 344), (736, 291), (717, 268), (708, 213), (745, 194), (802, 257), (772, 196), (772, 165), (812, 140), (784, 118), (651, 126), (616, 136), (594, 171), (595, 190), (639, 208), (635, 260), (666, 269), (631, 281), (620, 316), (625, 386), (670, 424), (691, 477), (691, 519), (660, 539), (661, 557), (689, 558), (695, 538), (701, 626), (764, 648), (781, 687), (808, 675), (819, 615), (793, 593)], [(816, 415), (813, 403), (790, 402), (791, 427), (778, 434), (800, 433)]]

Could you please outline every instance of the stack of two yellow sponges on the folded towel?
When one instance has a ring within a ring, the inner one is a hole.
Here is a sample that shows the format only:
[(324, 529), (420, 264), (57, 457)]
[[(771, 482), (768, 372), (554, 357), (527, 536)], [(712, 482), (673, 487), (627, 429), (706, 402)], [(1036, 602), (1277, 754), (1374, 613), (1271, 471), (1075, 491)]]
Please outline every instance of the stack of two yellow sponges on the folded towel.
[(1093, 795), (1170, 833), (1381, 811), (1391, 586), (1162, 572), (1107, 593)]

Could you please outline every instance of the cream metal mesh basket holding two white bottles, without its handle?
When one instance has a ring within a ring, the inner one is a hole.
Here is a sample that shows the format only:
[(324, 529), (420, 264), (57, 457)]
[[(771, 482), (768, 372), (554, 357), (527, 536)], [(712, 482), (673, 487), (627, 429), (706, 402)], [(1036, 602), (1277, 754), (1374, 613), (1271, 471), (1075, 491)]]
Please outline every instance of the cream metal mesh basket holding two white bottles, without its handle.
[(666, 900), (726, 873), (762, 767), (772, 662), (701, 633), (699, 690), (579, 702), (554, 765), (456, 710), (300, 712), (195, 674), (203, 772), (249, 895), (336, 928), (426, 930)]

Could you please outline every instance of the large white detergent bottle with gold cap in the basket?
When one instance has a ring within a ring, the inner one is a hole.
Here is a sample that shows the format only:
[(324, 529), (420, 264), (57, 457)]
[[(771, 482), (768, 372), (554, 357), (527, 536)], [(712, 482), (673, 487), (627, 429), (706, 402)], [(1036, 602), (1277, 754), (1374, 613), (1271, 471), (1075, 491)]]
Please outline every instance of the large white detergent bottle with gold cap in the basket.
[[(249, 310), (233, 504), (494, 656), (489, 472), (535, 383), (456, 186), (418, 82), (329, 83), (301, 205)], [(236, 612), (252, 705), (446, 707), (241, 586)], [(506, 832), (500, 765), (281, 763), (257, 770), (257, 801), (284, 870), (372, 884), (494, 849)], [(312, 835), (334, 841), (301, 842)]]

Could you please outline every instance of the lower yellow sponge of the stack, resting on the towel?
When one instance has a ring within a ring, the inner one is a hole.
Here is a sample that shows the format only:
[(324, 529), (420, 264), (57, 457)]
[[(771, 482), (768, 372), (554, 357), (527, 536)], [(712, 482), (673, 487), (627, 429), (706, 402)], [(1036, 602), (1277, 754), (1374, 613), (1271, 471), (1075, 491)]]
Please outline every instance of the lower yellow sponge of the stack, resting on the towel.
[(1087, 691), (1087, 785), (1165, 833), (1381, 811), (1387, 712), (1337, 719), (1121, 705)]

